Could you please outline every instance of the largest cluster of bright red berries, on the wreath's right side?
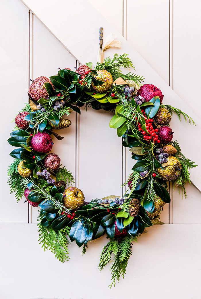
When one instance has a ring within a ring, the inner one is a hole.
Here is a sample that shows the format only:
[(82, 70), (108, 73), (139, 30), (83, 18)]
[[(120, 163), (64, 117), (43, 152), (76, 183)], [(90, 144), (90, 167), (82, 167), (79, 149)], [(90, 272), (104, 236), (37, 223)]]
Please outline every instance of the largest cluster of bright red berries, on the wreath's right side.
[[(142, 130), (141, 123), (137, 123), (138, 131), (140, 131), (142, 133), (142, 135), (144, 135), (143, 137), (144, 137), (145, 141), (150, 142), (150, 140), (153, 138), (154, 143), (156, 143), (156, 142), (160, 143), (161, 141), (158, 139), (158, 135), (156, 134), (158, 132), (158, 129), (153, 129), (153, 119), (152, 118), (147, 119), (144, 110), (141, 110), (141, 111), (144, 115), (144, 118), (146, 119), (146, 121), (145, 121), (146, 129), (150, 135), (147, 135), (147, 133)], [(137, 117), (135, 119), (137, 120)]]

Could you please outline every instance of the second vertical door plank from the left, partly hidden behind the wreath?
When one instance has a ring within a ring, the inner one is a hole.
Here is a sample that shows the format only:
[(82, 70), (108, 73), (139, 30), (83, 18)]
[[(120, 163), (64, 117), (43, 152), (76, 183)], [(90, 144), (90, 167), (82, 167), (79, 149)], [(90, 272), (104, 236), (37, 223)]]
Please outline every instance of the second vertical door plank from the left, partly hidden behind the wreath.
[[(48, 29), (34, 16), (33, 19), (33, 79), (39, 76), (52, 76), (57, 74), (58, 68), (71, 68), (74, 70), (76, 60), (68, 53), (66, 48), (48, 31)], [(68, 117), (72, 124), (69, 128), (56, 130), (64, 136), (58, 141), (51, 135), (54, 146), (51, 152), (56, 153), (63, 166), (71, 170), (75, 178), (75, 112)], [(38, 208), (32, 208), (32, 222), (36, 222)]]

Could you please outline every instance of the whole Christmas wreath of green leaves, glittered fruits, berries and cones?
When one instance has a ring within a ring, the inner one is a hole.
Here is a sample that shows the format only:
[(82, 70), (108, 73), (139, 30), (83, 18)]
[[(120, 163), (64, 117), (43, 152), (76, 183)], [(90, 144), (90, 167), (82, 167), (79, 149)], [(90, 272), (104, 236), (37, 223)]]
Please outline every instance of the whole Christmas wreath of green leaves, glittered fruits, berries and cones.
[[(33, 207), (40, 207), (39, 242), (61, 262), (68, 260), (69, 239), (83, 246), (106, 234), (109, 242), (100, 256), (99, 269), (111, 260), (112, 285), (124, 277), (132, 242), (153, 224), (162, 224), (159, 213), (170, 202), (168, 181), (185, 192), (194, 162), (185, 158), (177, 141), (172, 141), (169, 126), (172, 113), (194, 124), (179, 109), (164, 105), (162, 91), (144, 84), (135, 74), (122, 74), (120, 68), (133, 67), (127, 54), (108, 57), (103, 63), (81, 65), (76, 71), (59, 69), (55, 76), (38, 77), (31, 84), (29, 104), (16, 116), (16, 126), (8, 142), (17, 147), (8, 169), (8, 184), (17, 201), (25, 196)], [(52, 150), (54, 130), (64, 129), (71, 121), (62, 118), (79, 107), (103, 109), (114, 115), (109, 123), (130, 148), (134, 166), (124, 185), (123, 197), (108, 196), (84, 201), (74, 184), (72, 173), (60, 164)], [(68, 187), (66, 188), (66, 184)]]

